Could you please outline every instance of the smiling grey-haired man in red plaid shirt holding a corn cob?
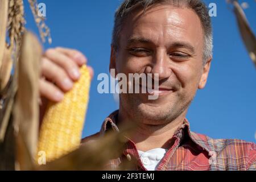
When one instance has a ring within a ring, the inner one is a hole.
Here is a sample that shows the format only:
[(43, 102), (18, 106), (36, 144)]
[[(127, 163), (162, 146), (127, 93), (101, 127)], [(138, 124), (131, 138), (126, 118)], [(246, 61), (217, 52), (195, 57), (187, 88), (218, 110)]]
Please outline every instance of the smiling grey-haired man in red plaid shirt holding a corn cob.
[[(158, 74), (159, 97), (120, 94), (119, 110), (105, 119), (100, 133), (83, 142), (133, 122), (138, 127), (127, 149), (109, 167), (118, 167), (127, 158), (137, 161), (138, 170), (255, 170), (254, 143), (193, 133), (185, 119), (197, 89), (207, 83), (212, 47), (212, 27), (203, 2), (125, 0), (115, 14), (110, 69), (125, 75)], [(46, 51), (42, 75), (56, 86), (42, 79), (42, 96), (61, 101), (85, 63), (75, 50)]]

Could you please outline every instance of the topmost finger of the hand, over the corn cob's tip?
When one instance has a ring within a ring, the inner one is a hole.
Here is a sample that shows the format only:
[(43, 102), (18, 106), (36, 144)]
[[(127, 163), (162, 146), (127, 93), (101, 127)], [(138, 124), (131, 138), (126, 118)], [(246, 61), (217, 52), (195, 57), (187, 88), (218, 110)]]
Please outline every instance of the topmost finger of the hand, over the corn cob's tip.
[(82, 65), (87, 63), (87, 58), (76, 49), (67, 49), (63, 47), (57, 47), (56, 51), (59, 51), (61, 53), (64, 53), (68, 57), (71, 57), (76, 63), (81, 67)]

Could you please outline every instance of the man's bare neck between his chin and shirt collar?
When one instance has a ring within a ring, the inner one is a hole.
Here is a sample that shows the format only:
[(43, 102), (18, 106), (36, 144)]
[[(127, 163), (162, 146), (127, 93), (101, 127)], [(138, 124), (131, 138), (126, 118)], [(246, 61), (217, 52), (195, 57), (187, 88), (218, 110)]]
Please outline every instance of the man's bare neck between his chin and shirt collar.
[(172, 139), (175, 131), (184, 123), (185, 110), (173, 121), (165, 125), (146, 125), (145, 122), (135, 121), (132, 114), (126, 113), (122, 109), (118, 113), (118, 123), (135, 122), (135, 132), (130, 136), (138, 150), (148, 151), (153, 148), (166, 148), (169, 149), (173, 144)]

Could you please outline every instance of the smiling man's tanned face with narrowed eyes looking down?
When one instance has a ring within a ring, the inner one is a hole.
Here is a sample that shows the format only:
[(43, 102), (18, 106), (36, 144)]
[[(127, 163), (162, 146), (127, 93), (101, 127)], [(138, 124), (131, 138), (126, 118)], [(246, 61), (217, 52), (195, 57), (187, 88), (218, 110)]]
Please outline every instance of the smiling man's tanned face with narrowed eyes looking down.
[[(204, 32), (196, 13), (169, 5), (131, 14), (112, 49), (116, 73), (158, 73), (159, 97), (121, 94), (120, 107), (148, 125), (170, 122), (187, 109), (198, 88), (204, 88), (210, 61), (203, 65)], [(153, 77), (154, 78), (154, 77)]]

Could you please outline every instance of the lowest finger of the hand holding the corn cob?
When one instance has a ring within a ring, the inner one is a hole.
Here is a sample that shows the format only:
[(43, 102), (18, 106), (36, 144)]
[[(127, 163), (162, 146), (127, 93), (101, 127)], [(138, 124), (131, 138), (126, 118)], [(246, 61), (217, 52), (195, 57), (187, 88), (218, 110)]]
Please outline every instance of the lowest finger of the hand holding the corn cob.
[(57, 86), (42, 78), (39, 81), (39, 90), (40, 96), (46, 97), (50, 101), (60, 102), (63, 100), (64, 93)]

